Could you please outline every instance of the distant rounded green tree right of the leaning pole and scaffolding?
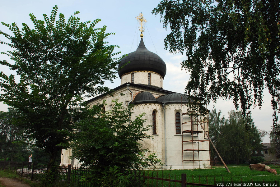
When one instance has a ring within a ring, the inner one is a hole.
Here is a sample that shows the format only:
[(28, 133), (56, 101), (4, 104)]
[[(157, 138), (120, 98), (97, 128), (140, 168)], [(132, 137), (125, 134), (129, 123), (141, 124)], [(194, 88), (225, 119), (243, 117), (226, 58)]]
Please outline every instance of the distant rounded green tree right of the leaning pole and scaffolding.
[[(244, 118), (239, 111), (230, 111), (228, 115), (225, 119), (216, 109), (209, 113), (210, 138), (225, 162), (250, 161), (252, 153), (262, 149), (261, 132), (249, 116)], [(217, 157), (212, 145), (211, 156)]]

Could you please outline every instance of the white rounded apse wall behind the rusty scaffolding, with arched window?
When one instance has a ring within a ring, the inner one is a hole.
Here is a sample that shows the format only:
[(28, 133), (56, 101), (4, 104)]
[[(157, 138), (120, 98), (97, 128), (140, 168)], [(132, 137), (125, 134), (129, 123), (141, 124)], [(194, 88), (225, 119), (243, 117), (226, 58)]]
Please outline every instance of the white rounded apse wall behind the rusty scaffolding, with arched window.
[[(175, 114), (176, 112), (181, 111), (181, 103), (171, 103), (166, 104), (166, 152), (167, 152), (167, 162), (166, 162), (166, 168), (171, 167), (173, 169), (182, 169), (182, 135), (176, 135), (175, 130)], [(183, 112), (187, 111), (187, 106), (183, 106)], [(183, 115), (183, 119), (181, 117), (181, 122), (190, 121), (190, 116)], [(206, 126), (208, 125), (205, 123)], [(200, 125), (193, 125), (193, 128), (195, 130), (202, 130)], [(208, 129), (208, 126), (207, 126)], [(182, 130), (182, 127), (181, 127)], [(190, 124), (183, 125), (183, 130), (191, 130)], [(207, 140), (204, 137), (204, 133), (194, 134), (194, 139), (199, 140)], [(183, 134), (183, 140), (188, 141), (191, 140), (191, 134), (184, 133)], [(183, 149), (192, 149), (192, 143), (184, 143)], [(194, 144), (194, 149), (198, 149), (197, 144)], [(209, 150), (209, 142), (201, 142), (199, 143), (199, 149)], [(193, 152), (192, 151), (184, 151), (184, 160), (192, 160), (193, 159)], [(209, 159), (209, 151), (201, 151), (199, 154), (200, 160), (207, 160)], [(194, 152), (194, 158), (198, 159), (198, 153)], [(203, 161), (200, 162), (200, 168), (204, 167), (210, 167), (209, 161)], [(184, 162), (184, 169), (192, 169), (193, 168), (193, 162), (188, 161)], [(198, 162), (195, 162), (195, 168), (198, 168)]]

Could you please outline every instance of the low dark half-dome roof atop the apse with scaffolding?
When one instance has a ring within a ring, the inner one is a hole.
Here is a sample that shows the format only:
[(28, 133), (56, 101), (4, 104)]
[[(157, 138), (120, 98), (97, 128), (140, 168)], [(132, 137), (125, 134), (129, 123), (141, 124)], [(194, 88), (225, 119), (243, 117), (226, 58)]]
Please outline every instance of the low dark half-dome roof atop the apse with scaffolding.
[(189, 103), (193, 102), (192, 99), (189, 98), (188, 95), (182, 93), (170, 93), (167, 95), (160, 96), (156, 98), (157, 101), (161, 103)]

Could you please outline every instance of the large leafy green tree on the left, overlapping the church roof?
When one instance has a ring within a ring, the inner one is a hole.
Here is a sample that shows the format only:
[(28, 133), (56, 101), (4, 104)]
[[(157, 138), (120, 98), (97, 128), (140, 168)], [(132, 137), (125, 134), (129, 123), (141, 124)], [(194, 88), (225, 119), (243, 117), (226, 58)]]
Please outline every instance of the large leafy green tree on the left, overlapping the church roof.
[(104, 81), (115, 77), (119, 60), (113, 58), (118, 46), (104, 41), (112, 33), (95, 27), (100, 19), (81, 22), (77, 11), (66, 20), (62, 13), (57, 18), (57, 11), (53, 7), (44, 20), (30, 14), (34, 29), (2, 22), (12, 34), (0, 32), (8, 40), (1, 43), (12, 48), (6, 53), (11, 61), (0, 64), (20, 77), (16, 82), (14, 75), (0, 72), (0, 101), (21, 113), (17, 125), (49, 154), (48, 171), (59, 151), (68, 148), (74, 122), (83, 113), (82, 97), (108, 91)]

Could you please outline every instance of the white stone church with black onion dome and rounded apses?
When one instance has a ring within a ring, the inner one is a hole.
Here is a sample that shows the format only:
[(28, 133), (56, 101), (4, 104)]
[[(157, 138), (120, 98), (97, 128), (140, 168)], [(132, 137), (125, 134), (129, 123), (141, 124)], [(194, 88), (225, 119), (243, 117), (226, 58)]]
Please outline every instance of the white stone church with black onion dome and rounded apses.
[[(114, 88), (114, 97), (104, 93), (88, 101), (95, 105), (106, 100), (105, 110), (112, 107), (112, 100), (118, 99), (126, 107), (133, 105), (133, 116), (146, 113), (145, 125), (152, 125), (147, 134), (154, 139), (145, 139), (144, 148), (156, 153), (162, 169), (193, 169), (210, 166), (207, 115), (187, 114), (192, 99), (185, 94), (163, 89), (166, 64), (157, 54), (145, 47), (142, 39), (136, 51), (124, 57), (119, 64), (121, 85)], [(130, 63), (127, 63), (130, 62)], [(182, 115), (183, 113), (183, 115)], [(200, 125), (200, 123), (202, 125)], [(61, 164), (78, 165), (70, 160), (71, 150), (62, 150)]]

